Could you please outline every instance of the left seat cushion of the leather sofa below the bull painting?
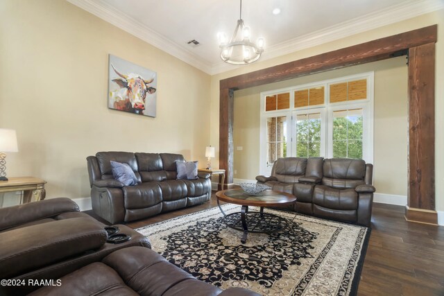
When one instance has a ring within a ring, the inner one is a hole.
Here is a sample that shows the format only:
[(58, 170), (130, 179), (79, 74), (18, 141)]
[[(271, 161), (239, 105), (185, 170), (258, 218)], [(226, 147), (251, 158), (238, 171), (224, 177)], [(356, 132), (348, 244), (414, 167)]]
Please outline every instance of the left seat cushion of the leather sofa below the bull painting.
[(122, 188), (126, 209), (152, 207), (162, 201), (162, 191), (157, 182), (144, 182)]

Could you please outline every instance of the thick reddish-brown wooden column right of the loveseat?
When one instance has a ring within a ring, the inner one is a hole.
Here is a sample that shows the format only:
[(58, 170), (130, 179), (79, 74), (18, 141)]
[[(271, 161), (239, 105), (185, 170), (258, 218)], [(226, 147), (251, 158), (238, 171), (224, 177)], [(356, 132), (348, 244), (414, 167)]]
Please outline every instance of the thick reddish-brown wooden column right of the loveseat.
[(409, 49), (409, 191), (406, 219), (438, 223), (435, 211), (435, 44)]

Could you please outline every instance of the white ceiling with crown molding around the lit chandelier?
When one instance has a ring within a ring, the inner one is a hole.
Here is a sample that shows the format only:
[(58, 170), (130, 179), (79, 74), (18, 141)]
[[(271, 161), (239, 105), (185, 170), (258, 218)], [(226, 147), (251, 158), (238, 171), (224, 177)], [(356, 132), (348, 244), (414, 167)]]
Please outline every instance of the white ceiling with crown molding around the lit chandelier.
[[(206, 73), (239, 67), (221, 61), (217, 40), (232, 35), (239, 0), (67, 1)], [(442, 8), (444, 0), (244, 0), (242, 19), (252, 40), (265, 38), (266, 60)]]

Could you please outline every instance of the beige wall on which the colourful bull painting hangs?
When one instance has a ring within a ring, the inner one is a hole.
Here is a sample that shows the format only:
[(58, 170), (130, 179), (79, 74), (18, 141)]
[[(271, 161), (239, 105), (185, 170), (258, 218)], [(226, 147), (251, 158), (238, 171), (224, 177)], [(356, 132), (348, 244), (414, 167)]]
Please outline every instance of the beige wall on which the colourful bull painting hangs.
[[(108, 54), (157, 72), (157, 117), (109, 110)], [(60, 0), (0, 1), (0, 128), (17, 130), (8, 176), (48, 198), (89, 197), (101, 150), (182, 153), (205, 163), (210, 76)]]

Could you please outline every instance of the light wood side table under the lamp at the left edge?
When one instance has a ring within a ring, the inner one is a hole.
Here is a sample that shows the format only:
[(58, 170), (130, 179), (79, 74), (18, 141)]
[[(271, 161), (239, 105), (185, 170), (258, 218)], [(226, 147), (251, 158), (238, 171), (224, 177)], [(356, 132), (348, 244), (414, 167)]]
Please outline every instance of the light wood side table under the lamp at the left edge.
[(8, 181), (0, 181), (0, 202), (3, 205), (3, 193), (12, 191), (23, 191), (24, 204), (31, 202), (33, 195), (36, 200), (44, 200), (46, 196), (45, 183), (45, 180), (36, 177), (10, 177)]

